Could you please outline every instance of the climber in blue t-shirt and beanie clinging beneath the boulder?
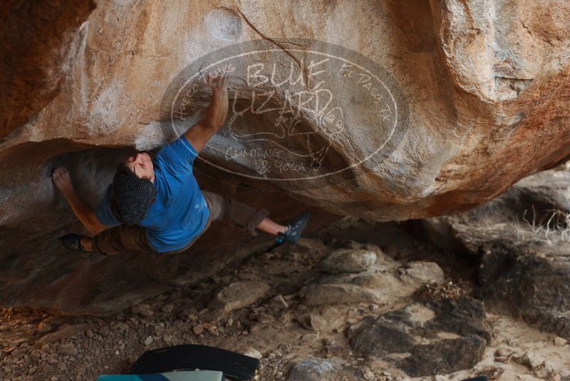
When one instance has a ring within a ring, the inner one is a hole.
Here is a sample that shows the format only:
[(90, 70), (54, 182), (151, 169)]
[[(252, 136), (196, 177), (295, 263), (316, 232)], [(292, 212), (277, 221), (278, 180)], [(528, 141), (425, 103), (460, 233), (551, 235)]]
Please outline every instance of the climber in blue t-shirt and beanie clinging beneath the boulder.
[(200, 191), (192, 164), (209, 138), (225, 123), (228, 110), (228, 76), (208, 74), (212, 100), (204, 118), (180, 138), (162, 147), (155, 158), (137, 153), (120, 163), (96, 210), (73, 189), (66, 168), (53, 171), (53, 182), (73, 212), (94, 235), (61, 237), (66, 248), (86, 253), (115, 255), (128, 250), (179, 253), (190, 247), (215, 220), (229, 220), (251, 235), (257, 230), (275, 236), (278, 243), (296, 242), (309, 221), (302, 213), (288, 225), (216, 193)]

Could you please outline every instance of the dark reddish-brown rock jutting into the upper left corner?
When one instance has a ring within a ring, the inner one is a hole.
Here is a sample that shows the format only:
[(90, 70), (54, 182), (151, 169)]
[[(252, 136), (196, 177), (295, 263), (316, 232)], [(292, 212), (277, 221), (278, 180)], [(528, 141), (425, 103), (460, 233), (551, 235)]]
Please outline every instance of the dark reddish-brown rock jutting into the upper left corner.
[(4, 1), (0, 142), (48, 105), (83, 56), (93, 0)]

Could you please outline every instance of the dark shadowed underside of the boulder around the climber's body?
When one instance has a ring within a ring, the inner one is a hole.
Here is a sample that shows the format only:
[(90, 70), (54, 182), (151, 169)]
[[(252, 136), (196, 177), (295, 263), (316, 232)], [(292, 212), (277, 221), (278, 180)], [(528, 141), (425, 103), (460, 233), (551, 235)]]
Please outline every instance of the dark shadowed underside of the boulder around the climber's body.
[[(270, 235), (253, 238), (231, 223), (217, 221), (183, 253), (131, 251), (105, 257), (66, 250), (58, 237), (88, 232), (54, 186), (51, 169), (68, 168), (79, 197), (96, 208), (117, 164), (133, 151), (86, 148), (68, 141), (26, 143), (0, 164), (0, 170), (12, 168), (16, 173), (0, 180), (0, 188), (6, 190), (0, 196), (1, 308), (29, 306), (74, 315), (108, 315), (212, 276), (232, 261), (274, 245)], [(76, 152), (61, 155), (70, 150)], [(232, 187), (200, 173), (197, 181), (201, 188), (267, 208), (280, 221), (309, 208), (279, 192)], [(316, 212), (309, 228), (337, 218)]]

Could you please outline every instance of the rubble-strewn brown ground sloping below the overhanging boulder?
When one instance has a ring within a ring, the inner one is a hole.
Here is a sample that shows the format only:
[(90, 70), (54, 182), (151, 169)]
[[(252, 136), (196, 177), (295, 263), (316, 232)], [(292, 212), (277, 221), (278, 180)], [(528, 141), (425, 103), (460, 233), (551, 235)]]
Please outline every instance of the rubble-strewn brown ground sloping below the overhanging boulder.
[(569, 380), (567, 340), (490, 313), (475, 267), (404, 225), (346, 219), (108, 317), (0, 310), (0, 377), (93, 380), (197, 343), (258, 357), (264, 381)]

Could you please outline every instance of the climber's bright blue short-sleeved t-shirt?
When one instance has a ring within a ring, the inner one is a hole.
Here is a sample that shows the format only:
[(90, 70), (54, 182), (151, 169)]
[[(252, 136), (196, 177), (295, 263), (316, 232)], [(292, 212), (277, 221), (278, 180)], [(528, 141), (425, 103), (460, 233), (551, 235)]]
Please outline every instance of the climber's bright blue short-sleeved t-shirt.
[[(198, 153), (185, 136), (162, 147), (152, 159), (157, 195), (140, 225), (157, 252), (180, 250), (206, 227), (209, 210), (192, 173)], [(110, 208), (110, 186), (95, 210), (103, 225), (120, 225)]]

